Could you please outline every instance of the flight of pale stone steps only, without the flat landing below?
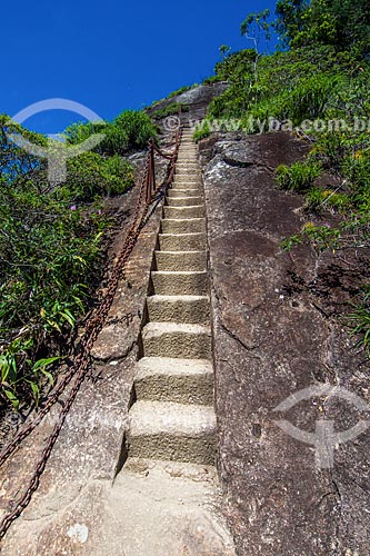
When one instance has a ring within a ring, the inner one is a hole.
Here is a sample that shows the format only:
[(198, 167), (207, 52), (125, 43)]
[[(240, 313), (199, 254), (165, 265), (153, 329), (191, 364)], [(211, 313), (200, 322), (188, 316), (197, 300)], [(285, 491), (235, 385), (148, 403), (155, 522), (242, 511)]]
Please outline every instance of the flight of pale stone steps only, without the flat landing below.
[(214, 465), (206, 206), (184, 130), (166, 198), (129, 419), (129, 458)]

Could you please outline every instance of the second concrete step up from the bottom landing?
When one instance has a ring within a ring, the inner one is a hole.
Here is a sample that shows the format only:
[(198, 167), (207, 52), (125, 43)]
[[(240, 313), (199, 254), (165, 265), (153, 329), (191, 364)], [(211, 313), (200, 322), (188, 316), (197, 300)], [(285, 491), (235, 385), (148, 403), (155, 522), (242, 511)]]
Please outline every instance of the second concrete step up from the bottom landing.
[(143, 357), (134, 378), (138, 400), (213, 404), (213, 368), (207, 359)]

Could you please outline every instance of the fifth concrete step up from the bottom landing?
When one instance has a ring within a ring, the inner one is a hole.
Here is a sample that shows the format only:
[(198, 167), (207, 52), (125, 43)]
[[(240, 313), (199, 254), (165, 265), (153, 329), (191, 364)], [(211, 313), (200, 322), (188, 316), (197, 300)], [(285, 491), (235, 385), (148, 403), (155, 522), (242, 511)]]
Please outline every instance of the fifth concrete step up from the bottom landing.
[(151, 272), (151, 281), (154, 295), (158, 296), (204, 296), (208, 294), (208, 272), (206, 271), (154, 270)]

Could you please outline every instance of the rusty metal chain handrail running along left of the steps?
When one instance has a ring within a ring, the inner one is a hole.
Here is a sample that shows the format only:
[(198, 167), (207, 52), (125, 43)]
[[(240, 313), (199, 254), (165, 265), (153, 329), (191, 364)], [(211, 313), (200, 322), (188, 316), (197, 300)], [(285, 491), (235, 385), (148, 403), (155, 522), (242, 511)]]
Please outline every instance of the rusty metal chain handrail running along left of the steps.
[[(56, 423), (53, 430), (48, 438), (48, 441), (46, 444), (44, 449), (42, 450), (41, 457), (34, 468), (34, 471), (32, 474), (32, 477), (29, 481), (29, 485), (27, 487), (27, 490), (22, 495), (22, 497), (17, 502), (16, 507), (9, 512), (3, 519), (0, 522), (0, 539), (3, 538), (6, 533), (8, 532), (9, 527), (11, 524), (20, 516), (20, 514), (24, 510), (24, 508), (29, 505), (33, 493), (38, 489), (39, 483), (41, 475), (47, 466), (47, 463), (49, 460), (49, 457), (51, 455), (51, 451), (53, 449), (53, 446), (59, 437), (59, 434), (63, 427), (64, 420), (67, 418), (67, 415), (74, 401), (74, 398), (80, 389), (80, 386), (82, 385), (87, 370), (90, 366), (90, 351), (91, 348), (97, 340), (104, 322), (108, 317), (109, 310), (111, 308), (119, 280), (121, 279), (126, 264), (139, 239), (140, 232), (146, 226), (148, 218), (150, 217), (150, 214), (148, 215), (150, 203), (153, 200), (158, 200), (158, 193), (164, 195), (166, 190), (168, 187), (171, 185), (173, 175), (176, 171), (176, 162), (177, 162), (177, 157), (178, 157), (178, 151), (179, 151), (179, 146), (180, 146), (180, 132), (177, 133), (176, 141), (174, 141), (174, 151), (171, 155), (161, 155), (164, 158), (169, 158), (170, 162), (168, 165), (167, 169), (167, 176), (164, 178), (164, 181), (162, 185), (154, 191), (152, 191), (152, 182), (149, 181), (148, 178), (154, 179), (154, 176), (151, 176), (151, 170), (154, 170), (153, 167), (153, 151), (157, 150), (154, 148), (154, 142), (150, 141), (149, 143), (149, 149), (148, 149), (148, 157), (147, 157), (147, 163), (146, 168), (143, 171), (143, 177), (138, 195), (138, 200), (134, 207), (133, 211), (133, 218), (132, 218), (132, 224), (131, 227), (127, 234), (123, 248), (118, 257), (118, 260), (114, 265), (112, 275), (109, 279), (109, 286), (107, 289), (107, 292), (104, 295), (104, 300), (102, 304), (99, 306), (97, 311), (92, 315), (92, 317), (88, 320), (88, 324), (86, 326), (86, 330), (83, 332), (83, 336), (80, 340), (80, 353), (76, 356), (74, 363), (70, 371), (66, 375), (63, 380), (60, 383), (58, 386), (57, 390), (52, 394), (52, 396), (49, 398), (48, 403), (46, 406), (42, 408), (41, 411), (39, 411), (38, 416), (36, 419), (32, 420), (30, 425), (28, 425), (23, 430), (21, 430), (16, 438), (13, 439), (12, 443), (10, 443), (9, 446), (1, 453), (0, 455), (0, 466), (14, 453), (19, 444), (27, 438), (32, 430), (39, 425), (41, 419), (49, 413), (51, 407), (56, 404), (56, 401), (60, 398), (61, 394), (66, 390), (67, 386), (73, 381), (73, 386), (68, 394), (67, 399), (63, 401), (63, 407), (61, 413), (59, 414), (59, 419)], [(159, 151), (160, 149), (158, 149)], [(160, 152), (159, 152), (160, 153)], [(150, 195), (149, 195), (149, 188), (150, 188)], [(153, 195), (154, 193), (154, 195)], [(156, 197), (157, 196), (157, 197)]]

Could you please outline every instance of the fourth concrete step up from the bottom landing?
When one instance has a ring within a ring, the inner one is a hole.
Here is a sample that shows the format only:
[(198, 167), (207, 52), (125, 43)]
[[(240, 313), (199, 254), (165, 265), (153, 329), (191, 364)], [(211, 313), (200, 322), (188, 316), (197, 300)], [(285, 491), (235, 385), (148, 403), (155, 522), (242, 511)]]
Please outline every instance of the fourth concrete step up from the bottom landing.
[(208, 296), (154, 295), (147, 297), (151, 322), (188, 322), (208, 325), (210, 299)]

